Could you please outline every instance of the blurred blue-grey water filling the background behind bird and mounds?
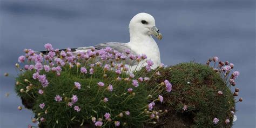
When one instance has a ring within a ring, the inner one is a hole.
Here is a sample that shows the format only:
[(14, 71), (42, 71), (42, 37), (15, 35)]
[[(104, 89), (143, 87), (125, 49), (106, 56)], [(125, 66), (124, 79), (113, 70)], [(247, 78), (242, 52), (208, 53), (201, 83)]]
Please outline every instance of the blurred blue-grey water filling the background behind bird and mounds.
[[(33, 114), (17, 110), (15, 63), (23, 49), (76, 48), (129, 42), (130, 19), (147, 12), (163, 33), (158, 42), (166, 65), (218, 56), (240, 71), (234, 127), (255, 127), (255, 3), (252, 0), (21, 1), (0, 3), (0, 127), (27, 127)], [(5, 97), (9, 92), (10, 96)]]

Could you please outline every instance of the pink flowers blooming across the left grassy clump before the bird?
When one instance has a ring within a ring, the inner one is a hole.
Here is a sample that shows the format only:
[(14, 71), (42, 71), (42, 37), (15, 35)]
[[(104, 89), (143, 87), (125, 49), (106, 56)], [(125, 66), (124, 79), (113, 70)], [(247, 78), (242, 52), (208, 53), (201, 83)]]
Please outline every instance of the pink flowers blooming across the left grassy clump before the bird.
[[(46, 49), (45, 55), (43, 53), (37, 53), (31, 49), (25, 49), (24, 50), (25, 55), (18, 57), (19, 63), (28, 63), (24, 65), (24, 70), (33, 71), (32, 78), (35, 80), (38, 80), (41, 83), (42, 87), (47, 87), (51, 83), (47, 79), (49, 73), (53, 72), (58, 77), (61, 75), (63, 71), (67, 69), (67, 67), (69, 67), (70, 69), (73, 67), (76, 67), (77, 73), (79, 76), (85, 76), (89, 74), (93, 75), (93, 73), (96, 72), (96, 69), (97, 69), (96, 66), (102, 67), (104, 69), (104, 73), (106, 71), (112, 70), (116, 72), (118, 76), (116, 80), (118, 81), (125, 80), (127, 83), (131, 85), (129, 86), (129, 88), (127, 87), (128, 88), (127, 91), (131, 96), (135, 96), (135, 92), (133, 91), (136, 90), (136, 87), (139, 86), (139, 83), (147, 82), (150, 80), (150, 78), (148, 77), (142, 78), (134, 75), (133, 73), (130, 73), (131, 71), (130, 67), (124, 63), (124, 62), (133, 63), (133, 62), (140, 62), (142, 60), (146, 60), (147, 56), (144, 54), (133, 55), (130, 50), (125, 50), (123, 53), (121, 53), (109, 47), (105, 49), (100, 49), (100, 50), (91, 48), (86, 52), (75, 52), (75, 53), (72, 52), (70, 48), (66, 49), (65, 51), (63, 50), (60, 51), (59, 49), (53, 49), (51, 44), (45, 44), (44, 47)], [(93, 60), (96, 60), (97, 62), (93, 62)], [(83, 63), (83, 62), (86, 62), (86, 63)], [(154, 64), (152, 60), (150, 59), (146, 60), (146, 64), (147, 65), (145, 66), (145, 69), (148, 72), (151, 71), (152, 65)], [(164, 66), (164, 65), (161, 64), (160, 66)], [(127, 73), (127, 72), (130, 73), (129, 77), (120, 78), (123, 76), (122, 73)], [(160, 72), (156, 72), (156, 75), (160, 75)], [(165, 80), (164, 83), (165, 83), (165, 90), (167, 92), (171, 92), (172, 90), (171, 83), (169, 83), (168, 80)], [(104, 88), (109, 92), (113, 91), (114, 85), (112, 84), (109, 84), (108, 86), (105, 87), (105, 84), (103, 82), (98, 82), (97, 85), (100, 87), (100, 89)], [(73, 86), (73, 89), (75, 89), (76, 91), (83, 89), (82, 85), (79, 82), (74, 82), (72, 86)], [(39, 95), (45, 95), (42, 87), (40, 87), (39, 90), (37, 91)], [(126, 93), (124, 94), (126, 95)], [(77, 112), (83, 111), (84, 108), (81, 106), (78, 106), (79, 101), (78, 101), (77, 95), (72, 93), (70, 93), (70, 95), (72, 95), (72, 97), (67, 98), (66, 95), (64, 95), (64, 93), (61, 95), (55, 94), (54, 100), (56, 101), (56, 103), (59, 103), (59, 104), (63, 104), (65, 102), (65, 105), (72, 108), (73, 111), (77, 111)], [(159, 100), (159, 102), (162, 103), (164, 99), (163, 99), (163, 96), (159, 95), (158, 99), (155, 99), (154, 101), (156, 100)], [(155, 105), (154, 101), (148, 105), (148, 108), (150, 111), (153, 109), (153, 106)], [(100, 102), (104, 104), (108, 104), (107, 102), (109, 102), (109, 99), (107, 97), (104, 97), (102, 100), (100, 100)], [(39, 107), (41, 109), (45, 109), (45, 104), (41, 103), (39, 104)], [(123, 111), (119, 114), (119, 116), (122, 117), (123, 113), (125, 114), (125, 116), (130, 116), (130, 111)], [(106, 120), (111, 120), (111, 114), (109, 112), (106, 112), (104, 114), (104, 117)], [(45, 122), (44, 117), (41, 117), (39, 121)], [(103, 120), (101, 118), (99, 118), (97, 121), (96, 121), (96, 118), (92, 118), (92, 121), (95, 124), (95, 126), (103, 126)], [(111, 121), (107, 121), (107, 122), (111, 122)], [(115, 120), (113, 122), (115, 126), (120, 126), (120, 122), (118, 120)]]

